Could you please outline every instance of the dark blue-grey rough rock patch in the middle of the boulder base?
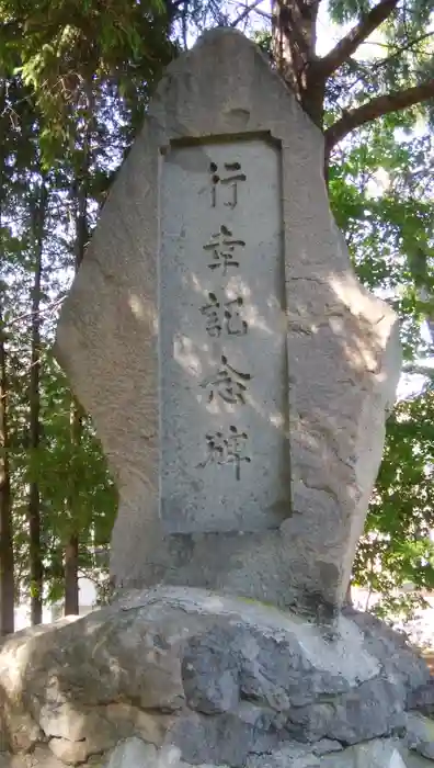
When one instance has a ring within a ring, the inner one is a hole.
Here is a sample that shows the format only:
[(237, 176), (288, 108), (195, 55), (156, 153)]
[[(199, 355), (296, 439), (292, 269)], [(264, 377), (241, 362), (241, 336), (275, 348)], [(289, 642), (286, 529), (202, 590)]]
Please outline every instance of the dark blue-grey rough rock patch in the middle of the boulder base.
[(235, 710), (240, 697), (282, 712), (350, 690), (342, 675), (319, 671), (293, 639), (245, 626), (215, 626), (190, 639), (183, 681), (187, 703), (205, 714)]

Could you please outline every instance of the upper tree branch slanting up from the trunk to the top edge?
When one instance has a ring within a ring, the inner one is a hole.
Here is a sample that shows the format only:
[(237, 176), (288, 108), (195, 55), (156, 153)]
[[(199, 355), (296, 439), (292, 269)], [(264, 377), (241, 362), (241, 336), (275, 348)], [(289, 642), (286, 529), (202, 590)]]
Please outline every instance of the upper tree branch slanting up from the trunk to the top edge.
[(326, 56), (318, 59), (315, 65), (317, 78), (326, 80), (339, 67), (346, 61), (350, 56), (358, 48), (361, 43), (369, 37), (369, 35), (390, 16), (398, 5), (399, 0), (380, 0), (377, 5), (364, 16), (358, 24), (350, 30), (349, 34), (342, 37), (339, 43)]

